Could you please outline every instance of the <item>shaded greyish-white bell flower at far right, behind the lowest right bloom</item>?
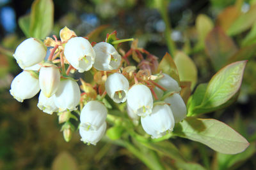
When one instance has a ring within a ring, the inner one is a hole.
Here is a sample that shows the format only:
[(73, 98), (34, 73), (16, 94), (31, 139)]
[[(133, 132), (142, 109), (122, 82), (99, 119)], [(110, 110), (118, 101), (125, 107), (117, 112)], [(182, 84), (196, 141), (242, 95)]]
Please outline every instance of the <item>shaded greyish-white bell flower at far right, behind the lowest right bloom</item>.
[(181, 120), (186, 118), (186, 104), (184, 103), (182, 97), (179, 94), (175, 93), (172, 94), (172, 96), (170, 97), (166, 97), (164, 99), (164, 102), (170, 104), (175, 123), (179, 123)]

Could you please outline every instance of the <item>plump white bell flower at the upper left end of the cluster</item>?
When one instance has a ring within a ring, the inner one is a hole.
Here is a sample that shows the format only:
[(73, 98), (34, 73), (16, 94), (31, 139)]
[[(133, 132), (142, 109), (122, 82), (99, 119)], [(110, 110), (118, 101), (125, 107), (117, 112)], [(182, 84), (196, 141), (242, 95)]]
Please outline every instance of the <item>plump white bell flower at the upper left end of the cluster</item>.
[(38, 64), (46, 55), (44, 45), (35, 38), (29, 38), (20, 43), (13, 57), (22, 69)]

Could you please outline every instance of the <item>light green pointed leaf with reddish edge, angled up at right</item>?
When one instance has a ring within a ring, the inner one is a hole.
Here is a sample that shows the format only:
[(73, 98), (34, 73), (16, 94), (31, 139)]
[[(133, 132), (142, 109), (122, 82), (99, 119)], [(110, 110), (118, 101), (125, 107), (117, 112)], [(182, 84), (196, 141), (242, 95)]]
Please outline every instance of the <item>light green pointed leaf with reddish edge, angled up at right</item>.
[(200, 108), (213, 108), (226, 103), (239, 90), (246, 61), (238, 61), (223, 67), (212, 76)]

